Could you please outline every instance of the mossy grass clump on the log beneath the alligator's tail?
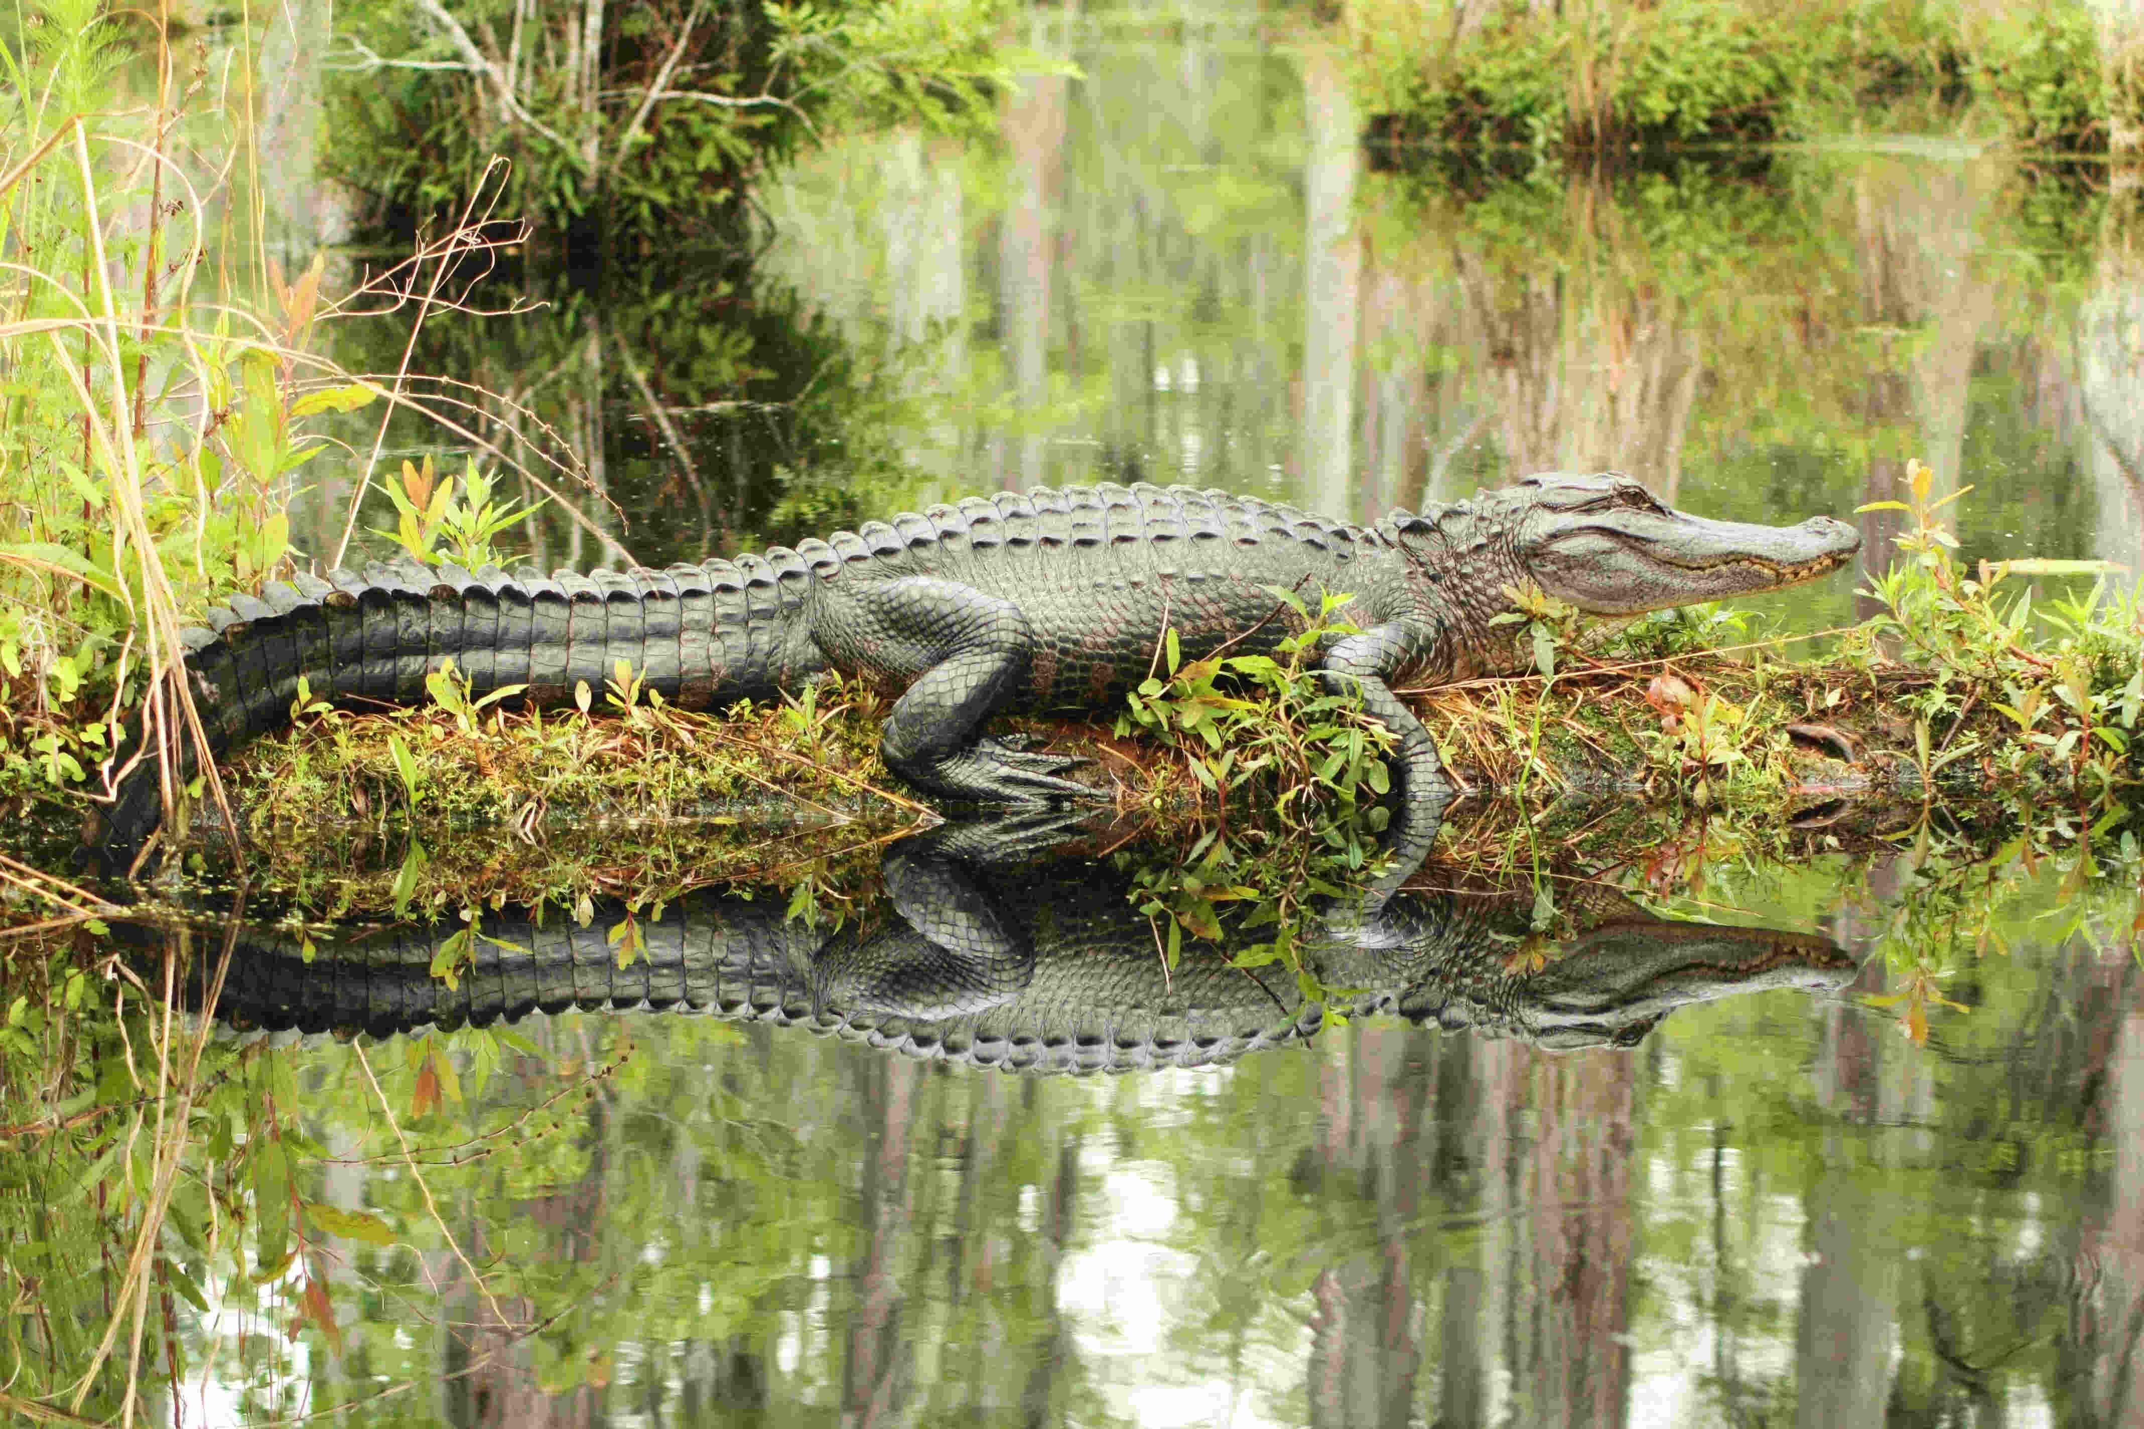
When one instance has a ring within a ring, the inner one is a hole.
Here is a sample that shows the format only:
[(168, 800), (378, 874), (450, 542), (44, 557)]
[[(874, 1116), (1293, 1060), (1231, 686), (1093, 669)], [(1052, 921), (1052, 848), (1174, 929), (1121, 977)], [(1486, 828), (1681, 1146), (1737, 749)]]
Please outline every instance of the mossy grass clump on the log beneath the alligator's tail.
[(240, 756), (249, 878), (328, 917), (662, 900), (810, 883), (930, 818), (888, 788), (883, 705), (858, 683), (697, 713), (620, 671), (611, 718), (585, 690), (564, 711), (472, 701), (452, 666), (427, 686), (379, 713), (302, 698), (292, 735)]

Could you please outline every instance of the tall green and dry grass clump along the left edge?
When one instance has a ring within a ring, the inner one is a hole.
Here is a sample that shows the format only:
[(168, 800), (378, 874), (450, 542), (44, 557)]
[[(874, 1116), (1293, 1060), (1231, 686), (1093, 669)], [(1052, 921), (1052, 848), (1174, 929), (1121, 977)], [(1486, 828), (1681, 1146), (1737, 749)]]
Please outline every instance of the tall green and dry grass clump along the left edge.
[(232, 86), (204, 88), (94, 0), (30, 19), (0, 56), (0, 244), (17, 257), (0, 281), (0, 810), (15, 816), (109, 791), (124, 761), (195, 728), (180, 626), (287, 570), (292, 495), (328, 450), (315, 426), (377, 394), (311, 351), (339, 315), (324, 264), (285, 279), (249, 221), (234, 137), (249, 45)]

